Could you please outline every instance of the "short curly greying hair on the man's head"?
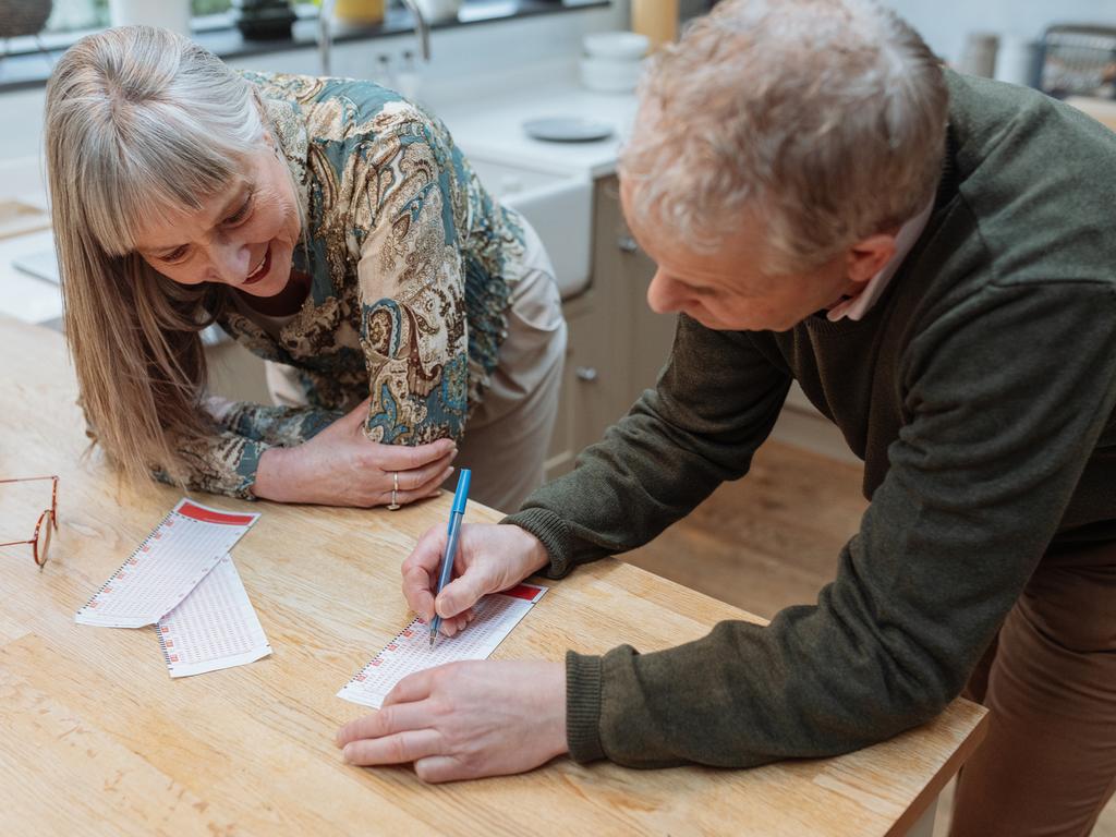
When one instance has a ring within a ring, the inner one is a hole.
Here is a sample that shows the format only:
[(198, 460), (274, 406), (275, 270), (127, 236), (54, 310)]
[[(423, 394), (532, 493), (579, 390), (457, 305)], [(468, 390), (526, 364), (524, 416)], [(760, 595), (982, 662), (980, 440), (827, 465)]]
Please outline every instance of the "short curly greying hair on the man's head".
[(723, 0), (641, 84), (628, 208), (700, 252), (762, 219), (761, 267), (809, 269), (932, 199), (947, 104), (937, 58), (873, 0)]

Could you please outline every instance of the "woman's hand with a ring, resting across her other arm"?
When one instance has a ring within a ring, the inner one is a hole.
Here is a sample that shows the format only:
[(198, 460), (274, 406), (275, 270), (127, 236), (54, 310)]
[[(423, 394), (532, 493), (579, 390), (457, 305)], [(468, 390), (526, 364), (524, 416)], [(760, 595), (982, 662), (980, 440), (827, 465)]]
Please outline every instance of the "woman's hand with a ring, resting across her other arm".
[(296, 448), (269, 448), (260, 456), (252, 493), (278, 502), (369, 508), (433, 497), (453, 472), (458, 448), (450, 439), (430, 444), (379, 444), (364, 434), (368, 400)]

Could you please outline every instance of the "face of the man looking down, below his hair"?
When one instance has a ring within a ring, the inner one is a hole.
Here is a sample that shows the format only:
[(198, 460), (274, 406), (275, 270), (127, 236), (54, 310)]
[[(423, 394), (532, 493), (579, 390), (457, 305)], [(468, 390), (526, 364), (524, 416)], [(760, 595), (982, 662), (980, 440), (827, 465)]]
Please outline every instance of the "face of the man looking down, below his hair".
[(752, 213), (741, 215), (739, 232), (715, 252), (702, 253), (656, 223), (641, 223), (628, 211), (629, 190), (623, 183), (620, 198), (632, 233), (658, 266), (647, 289), (652, 310), (685, 314), (708, 328), (785, 331), (857, 294), (875, 272), (865, 271), (878, 262), (863, 263), (854, 248), (808, 273), (769, 276), (760, 269), (766, 223)]

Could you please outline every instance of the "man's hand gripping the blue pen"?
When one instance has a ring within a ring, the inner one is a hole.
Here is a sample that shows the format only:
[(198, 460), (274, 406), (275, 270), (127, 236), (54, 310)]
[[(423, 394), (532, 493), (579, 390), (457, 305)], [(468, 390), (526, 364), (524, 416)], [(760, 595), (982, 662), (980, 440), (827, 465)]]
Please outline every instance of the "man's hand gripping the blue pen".
[(446, 636), (469, 624), (472, 607), (481, 596), (506, 590), (550, 562), (546, 547), (526, 529), (465, 523), (453, 560), (453, 580), (435, 602), (446, 537), (444, 523), (431, 527), (403, 561), (403, 596), (407, 604), (427, 624), (436, 606)]

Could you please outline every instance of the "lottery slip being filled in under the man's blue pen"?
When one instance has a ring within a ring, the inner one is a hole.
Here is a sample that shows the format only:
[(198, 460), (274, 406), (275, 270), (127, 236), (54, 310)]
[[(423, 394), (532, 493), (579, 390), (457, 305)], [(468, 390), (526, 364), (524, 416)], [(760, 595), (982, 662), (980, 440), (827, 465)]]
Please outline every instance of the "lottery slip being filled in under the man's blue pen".
[(469, 627), (440, 636), (430, 647), (430, 628), (419, 617), (396, 634), (372, 661), (341, 686), (338, 698), (379, 709), (387, 693), (408, 674), (459, 660), (484, 660), (538, 602), (546, 587), (521, 584), (482, 598)]

